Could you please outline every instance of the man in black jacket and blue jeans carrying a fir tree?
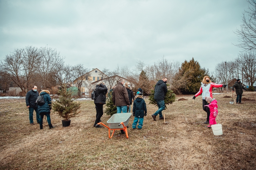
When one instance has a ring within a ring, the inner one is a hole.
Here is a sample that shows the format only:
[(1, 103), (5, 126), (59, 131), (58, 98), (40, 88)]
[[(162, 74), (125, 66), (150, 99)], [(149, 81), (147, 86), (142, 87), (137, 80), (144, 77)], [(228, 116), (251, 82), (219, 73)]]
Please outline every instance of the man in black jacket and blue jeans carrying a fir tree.
[(167, 78), (163, 77), (162, 80), (159, 80), (155, 85), (155, 94), (154, 99), (157, 102), (158, 110), (152, 114), (154, 121), (156, 116), (159, 114), (159, 120), (163, 119), (162, 111), (165, 110), (165, 94), (167, 93)]

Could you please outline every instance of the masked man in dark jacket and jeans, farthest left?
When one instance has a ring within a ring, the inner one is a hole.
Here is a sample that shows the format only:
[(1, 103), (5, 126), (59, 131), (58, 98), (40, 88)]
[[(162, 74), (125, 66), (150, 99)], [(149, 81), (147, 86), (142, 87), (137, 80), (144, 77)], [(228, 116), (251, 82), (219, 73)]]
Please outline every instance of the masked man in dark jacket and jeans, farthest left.
[(29, 121), (30, 125), (35, 125), (33, 121), (33, 112), (36, 111), (36, 121), (39, 124), (39, 113), (37, 110), (36, 99), (39, 96), (37, 87), (33, 86), (32, 90), (28, 91), (26, 95), (26, 105), (29, 110)]

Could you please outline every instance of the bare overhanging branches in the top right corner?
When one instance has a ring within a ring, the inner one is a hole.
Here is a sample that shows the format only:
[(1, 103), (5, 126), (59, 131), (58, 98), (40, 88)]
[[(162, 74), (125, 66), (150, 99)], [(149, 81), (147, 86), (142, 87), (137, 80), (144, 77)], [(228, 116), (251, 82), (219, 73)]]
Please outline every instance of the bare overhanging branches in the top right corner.
[(244, 50), (256, 50), (256, 1), (247, 0), (249, 10), (243, 12), (242, 25), (236, 30), (239, 44), (236, 46)]

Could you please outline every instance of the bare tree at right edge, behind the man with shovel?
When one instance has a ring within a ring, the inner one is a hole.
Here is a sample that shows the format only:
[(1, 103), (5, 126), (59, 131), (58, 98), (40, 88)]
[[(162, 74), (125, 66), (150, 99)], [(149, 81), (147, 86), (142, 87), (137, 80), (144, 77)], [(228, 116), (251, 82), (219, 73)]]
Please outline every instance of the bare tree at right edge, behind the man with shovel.
[(237, 63), (242, 64), (243, 77), (249, 86), (253, 86), (256, 81), (256, 55), (252, 51), (240, 53), (237, 57)]

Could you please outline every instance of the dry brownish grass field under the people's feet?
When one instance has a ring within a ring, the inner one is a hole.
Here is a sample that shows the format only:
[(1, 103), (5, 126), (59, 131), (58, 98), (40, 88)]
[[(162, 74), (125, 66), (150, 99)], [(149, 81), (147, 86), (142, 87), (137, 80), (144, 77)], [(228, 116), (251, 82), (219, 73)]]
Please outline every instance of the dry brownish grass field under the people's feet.
[[(0, 100), (0, 169), (256, 169), (255, 92), (245, 92), (244, 104), (229, 104), (232, 93), (216, 94), (217, 123), (223, 135), (214, 136), (206, 127), (201, 96), (177, 96), (163, 111), (163, 120), (153, 121), (157, 107), (146, 100), (148, 116), (142, 130), (128, 128), (129, 139), (116, 131), (108, 138), (108, 129), (94, 128), (96, 110), (93, 101), (82, 101), (81, 113), (62, 127), (61, 118), (51, 113), (54, 129), (44, 123), (30, 125), (24, 99)], [(21, 102), (21, 104), (20, 104)], [(104, 114), (107, 125), (110, 116)], [(34, 114), (34, 122), (35, 121)]]

